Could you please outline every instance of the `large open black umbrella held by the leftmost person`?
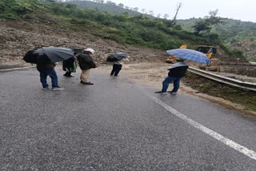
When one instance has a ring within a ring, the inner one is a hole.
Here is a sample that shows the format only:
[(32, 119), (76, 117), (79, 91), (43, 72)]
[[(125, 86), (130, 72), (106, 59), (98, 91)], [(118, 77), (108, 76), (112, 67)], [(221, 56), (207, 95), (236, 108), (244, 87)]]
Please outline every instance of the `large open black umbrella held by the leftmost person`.
[(42, 47), (28, 51), (23, 60), (29, 63), (55, 63), (65, 61), (74, 56), (74, 51), (64, 47)]

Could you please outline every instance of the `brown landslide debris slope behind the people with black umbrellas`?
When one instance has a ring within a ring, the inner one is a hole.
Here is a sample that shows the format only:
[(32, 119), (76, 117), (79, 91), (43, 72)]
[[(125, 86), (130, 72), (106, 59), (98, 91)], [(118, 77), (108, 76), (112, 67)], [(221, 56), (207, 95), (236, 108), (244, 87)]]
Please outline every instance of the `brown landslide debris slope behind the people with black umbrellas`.
[(102, 40), (91, 34), (77, 34), (68, 30), (54, 30), (49, 26), (32, 25), (27, 22), (0, 21), (0, 63), (24, 64), (22, 58), (28, 50), (38, 46), (64, 46), (93, 48), (95, 61), (104, 63), (107, 56), (125, 52), (130, 62), (164, 62), (168, 55), (162, 50), (152, 50), (129, 45), (119, 45)]

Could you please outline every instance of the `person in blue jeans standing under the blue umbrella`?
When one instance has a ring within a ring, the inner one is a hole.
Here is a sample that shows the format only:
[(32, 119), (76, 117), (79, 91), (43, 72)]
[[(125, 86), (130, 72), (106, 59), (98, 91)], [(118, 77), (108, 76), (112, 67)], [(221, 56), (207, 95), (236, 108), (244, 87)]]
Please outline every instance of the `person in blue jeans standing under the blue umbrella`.
[(166, 94), (167, 89), (171, 82), (174, 82), (174, 89), (170, 91), (170, 93), (177, 93), (179, 89), (180, 79), (186, 74), (186, 70), (189, 66), (184, 62), (185, 60), (182, 58), (176, 58), (176, 63), (169, 67), (167, 70), (170, 70), (168, 76), (162, 82), (162, 90), (156, 91), (154, 93)]

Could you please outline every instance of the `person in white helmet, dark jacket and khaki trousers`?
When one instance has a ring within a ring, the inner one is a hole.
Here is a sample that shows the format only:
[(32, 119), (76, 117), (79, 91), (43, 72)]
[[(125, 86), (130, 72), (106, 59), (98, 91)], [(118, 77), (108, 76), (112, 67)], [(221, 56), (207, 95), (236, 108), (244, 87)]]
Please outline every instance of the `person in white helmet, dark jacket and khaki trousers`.
[(96, 68), (96, 64), (94, 63), (93, 58), (90, 56), (91, 54), (94, 54), (94, 50), (87, 48), (86, 50), (82, 50), (82, 54), (78, 54), (77, 57), (80, 69), (82, 70), (80, 83), (85, 85), (94, 85), (94, 83), (89, 81), (90, 69)]

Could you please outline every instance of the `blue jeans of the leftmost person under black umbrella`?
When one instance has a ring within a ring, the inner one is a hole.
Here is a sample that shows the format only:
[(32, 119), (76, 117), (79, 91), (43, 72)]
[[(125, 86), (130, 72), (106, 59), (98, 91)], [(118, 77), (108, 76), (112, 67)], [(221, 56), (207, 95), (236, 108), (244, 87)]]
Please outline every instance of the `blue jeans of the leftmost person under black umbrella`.
[(49, 85), (47, 84), (47, 76), (49, 75), (51, 78), (52, 87), (58, 87), (58, 77), (56, 71), (54, 69), (38, 69), (40, 73), (40, 82), (42, 83), (42, 87), (46, 88)]

